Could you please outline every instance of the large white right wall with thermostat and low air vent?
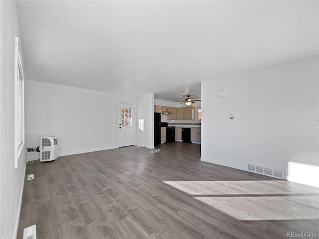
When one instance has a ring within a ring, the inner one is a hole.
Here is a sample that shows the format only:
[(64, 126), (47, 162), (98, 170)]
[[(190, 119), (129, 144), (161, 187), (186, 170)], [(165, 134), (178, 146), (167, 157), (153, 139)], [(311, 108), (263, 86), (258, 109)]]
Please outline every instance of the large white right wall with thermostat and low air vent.
[(319, 186), (318, 64), (317, 55), (202, 82), (201, 160), (284, 169), (288, 180)]

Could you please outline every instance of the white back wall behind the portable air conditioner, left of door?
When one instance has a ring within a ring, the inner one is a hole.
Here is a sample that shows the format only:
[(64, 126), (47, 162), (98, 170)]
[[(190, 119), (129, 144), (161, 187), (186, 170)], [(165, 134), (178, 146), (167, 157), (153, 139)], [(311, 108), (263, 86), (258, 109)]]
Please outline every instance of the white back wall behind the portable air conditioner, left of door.
[[(40, 136), (53, 135), (60, 156), (116, 148), (117, 102), (136, 101), (136, 97), (27, 80), (26, 146), (38, 146)], [(34, 157), (28, 158), (39, 159)]]

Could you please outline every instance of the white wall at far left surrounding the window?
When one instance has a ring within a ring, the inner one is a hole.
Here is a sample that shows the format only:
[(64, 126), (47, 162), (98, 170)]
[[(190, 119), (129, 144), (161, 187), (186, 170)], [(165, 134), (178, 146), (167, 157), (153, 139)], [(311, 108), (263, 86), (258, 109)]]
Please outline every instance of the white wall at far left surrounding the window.
[[(17, 233), (26, 165), (23, 149), (14, 167), (14, 51), (20, 35), (15, 1), (0, 1), (0, 21), (0, 238), (11, 239)], [(23, 61), (20, 39), (19, 51)]]

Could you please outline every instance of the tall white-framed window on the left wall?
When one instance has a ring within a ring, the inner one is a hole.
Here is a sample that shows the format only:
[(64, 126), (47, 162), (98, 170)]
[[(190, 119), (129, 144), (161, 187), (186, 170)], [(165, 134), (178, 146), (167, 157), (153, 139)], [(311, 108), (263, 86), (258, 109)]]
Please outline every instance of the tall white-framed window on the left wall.
[(21, 58), (18, 50), (18, 37), (15, 38), (15, 72), (14, 72), (14, 150), (15, 167), (17, 160), (24, 146), (24, 77), (21, 64)]

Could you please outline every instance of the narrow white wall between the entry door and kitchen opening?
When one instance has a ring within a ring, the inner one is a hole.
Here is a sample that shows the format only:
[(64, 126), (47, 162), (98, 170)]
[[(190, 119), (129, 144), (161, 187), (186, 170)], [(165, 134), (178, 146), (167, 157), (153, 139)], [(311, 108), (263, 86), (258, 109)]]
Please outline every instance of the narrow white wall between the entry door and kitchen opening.
[[(154, 94), (138, 97), (136, 115), (136, 145), (154, 148)], [(144, 119), (144, 131), (138, 126), (139, 119)]]

